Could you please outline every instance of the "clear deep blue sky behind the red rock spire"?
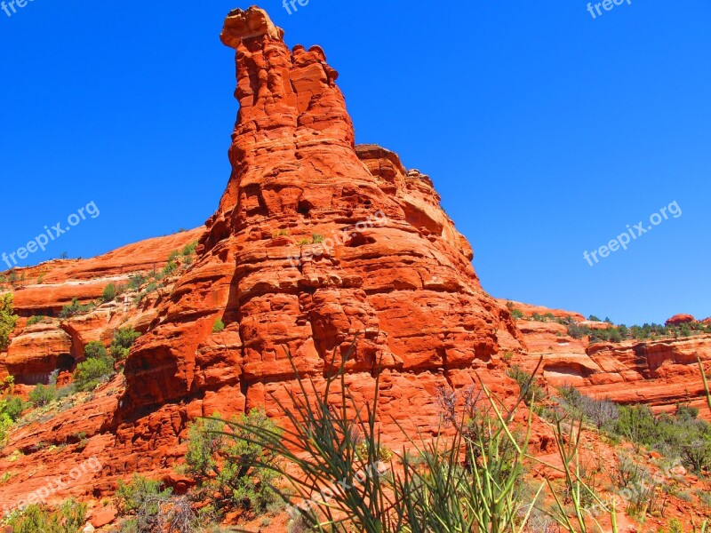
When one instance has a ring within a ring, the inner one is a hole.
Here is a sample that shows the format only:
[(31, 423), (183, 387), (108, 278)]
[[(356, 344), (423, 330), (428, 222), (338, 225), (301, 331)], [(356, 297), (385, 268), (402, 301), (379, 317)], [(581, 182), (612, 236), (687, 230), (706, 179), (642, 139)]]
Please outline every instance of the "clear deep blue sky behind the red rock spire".
[[(237, 103), (235, 0), (0, 12), (0, 252), (100, 209), (22, 264), (90, 257), (212, 215)], [(661, 322), (711, 315), (711, 4), (309, 0), (261, 4), (321, 44), (358, 142), (432, 176), (500, 298)], [(676, 201), (595, 267), (583, 259)], [(0, 268), (3, 264), (0, 264)]]

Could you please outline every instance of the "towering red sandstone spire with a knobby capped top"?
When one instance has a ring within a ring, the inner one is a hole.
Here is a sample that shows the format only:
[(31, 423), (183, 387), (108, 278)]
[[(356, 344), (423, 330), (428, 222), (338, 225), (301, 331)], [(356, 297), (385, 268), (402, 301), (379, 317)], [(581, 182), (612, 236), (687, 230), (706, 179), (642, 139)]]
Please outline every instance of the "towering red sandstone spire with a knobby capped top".
[[(356, 335), (349, 370), (381, 362), (446, 383), (491, 360), (499, 328), (517, 335), (431, 180), (383, 148), (356, 149), (324, 52), (290, 52), (283, 35), (256, 9), (226, 21), (240, 102), (232, 175), (201, 258), (129, 357), (126, 415), (223, 386), (260, 402), (292, 378), (287, 353), (320, 374)], [(213, 334), (217, 318), (227, 329)]]

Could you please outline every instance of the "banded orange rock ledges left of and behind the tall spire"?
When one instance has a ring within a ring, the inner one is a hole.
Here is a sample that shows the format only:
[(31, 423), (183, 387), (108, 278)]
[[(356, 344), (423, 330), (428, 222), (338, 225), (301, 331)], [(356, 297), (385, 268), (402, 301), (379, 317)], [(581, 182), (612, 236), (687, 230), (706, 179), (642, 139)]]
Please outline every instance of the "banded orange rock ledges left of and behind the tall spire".
[(16, 282), (13, 288), (15, 312), (21, 318), (7, 353), (0, 354), (0, 378), (12, 375), (17, 384), (46, 383), (52, 371), (72, 370), (82, 361), (87, 343), (98, 340), (108, 345), (114, 331), (124, 324), (148, 330), (148, 323), (155, 318), (154, 295), (140, 308), (131, 303), (135, 294), (124, 295), (68, 320), (48, 319), (29, 327), (27, 323), (33, 315), (56, 316), (72, 298), (99, 302), (109, 283), (125, 284), (130, 274), (161, 269), (172, 251), (195, 243), (203, 231), (148, 239), (98, 258), (55, 260), (16, 269), (18, 279), (25, 280)]

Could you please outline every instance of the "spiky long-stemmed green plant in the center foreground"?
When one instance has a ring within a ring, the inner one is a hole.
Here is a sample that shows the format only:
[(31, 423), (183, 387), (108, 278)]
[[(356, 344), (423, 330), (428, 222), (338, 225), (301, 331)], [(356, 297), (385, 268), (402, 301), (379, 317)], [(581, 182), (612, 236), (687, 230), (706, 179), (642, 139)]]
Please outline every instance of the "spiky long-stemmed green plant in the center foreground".
[[(306, 523), (316, 531), (369, 533), (523, 530), (532, 506), (522, 517), (516, 481), (523, 470), (527, 437), (516, 438), (510, 427), (523, 398), (505, 410), (482, 384), (478, 397), (490, 407), (486, 416), (476, 418), (475, 428), (467, 435), (460, 431), (469, 423), (464, 413), (461, 418), (451, 416), (457, 430), (453, 439), (428, 441), (423, 435), (404, 434), (423, 460), (411, 465), (412, 453), (403, 450), (398, 457), (402, 468), (388, 472), (377, 429), (379, 378), (372, 402), (356, 402), (348, 391), (345, 364), (354, 346), (340, 368), (331, 365), (323, 393), (302, 378), (292, 362), (299, 391), (288, 391), (286, 403), (275, 397), (292, 428), (284, 434), (228, 423), (242, 430), (244, 439), (298, 469), (276, 468), (293, 490), (292, 495), (280, 492), (281, 496), (298, 504), (292, 506), (292, 526), (303, 530)], [(469, 414), (479, 412), (474, 403), (470, 408)]]

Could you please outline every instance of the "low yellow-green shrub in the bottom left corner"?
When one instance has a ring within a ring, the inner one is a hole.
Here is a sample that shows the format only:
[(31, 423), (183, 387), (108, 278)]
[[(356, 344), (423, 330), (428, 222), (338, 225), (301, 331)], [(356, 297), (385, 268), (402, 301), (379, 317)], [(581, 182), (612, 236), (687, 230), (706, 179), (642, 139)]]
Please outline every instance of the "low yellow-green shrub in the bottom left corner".
[(11, 513), (6, 523), (14, 533), (78, 533), (84, 528), (86, 508), (74, 499), (53, 510), (45, 505), (28, 505), (21, 512)]

